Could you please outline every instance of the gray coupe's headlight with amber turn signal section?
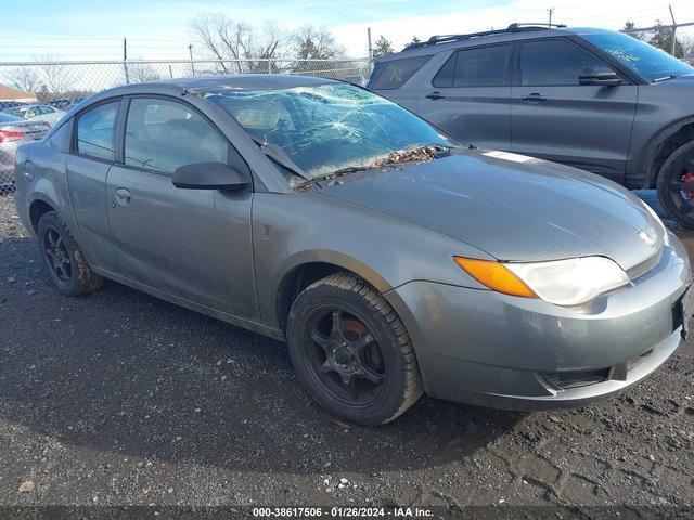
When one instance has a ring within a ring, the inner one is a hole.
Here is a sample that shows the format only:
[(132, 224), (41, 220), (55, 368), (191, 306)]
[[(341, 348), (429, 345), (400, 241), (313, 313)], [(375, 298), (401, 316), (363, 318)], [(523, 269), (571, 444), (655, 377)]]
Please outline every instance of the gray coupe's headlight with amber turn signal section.
[(629, 284), (629, 277), (605, 257), (581, 257), (550, 262), (506, 263), (454, 257), (480, 284), (498, 292), (539, 297), (557, 306), (580, 306), (603, 292)]

